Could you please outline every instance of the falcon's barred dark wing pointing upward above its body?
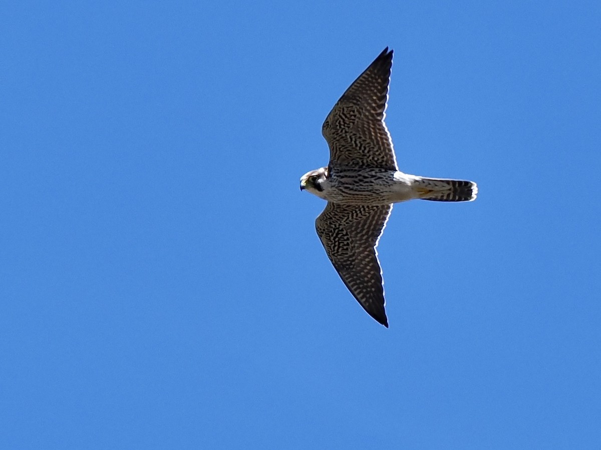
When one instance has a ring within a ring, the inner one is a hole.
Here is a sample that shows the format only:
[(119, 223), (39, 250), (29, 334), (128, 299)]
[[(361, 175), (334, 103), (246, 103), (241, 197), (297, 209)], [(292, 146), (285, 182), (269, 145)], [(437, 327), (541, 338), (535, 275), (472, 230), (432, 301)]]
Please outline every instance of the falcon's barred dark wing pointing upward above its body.
[(331, 166), (398, 170), (384, 123), (392, 50), (388, 47), (350, 85), (323, 122)]

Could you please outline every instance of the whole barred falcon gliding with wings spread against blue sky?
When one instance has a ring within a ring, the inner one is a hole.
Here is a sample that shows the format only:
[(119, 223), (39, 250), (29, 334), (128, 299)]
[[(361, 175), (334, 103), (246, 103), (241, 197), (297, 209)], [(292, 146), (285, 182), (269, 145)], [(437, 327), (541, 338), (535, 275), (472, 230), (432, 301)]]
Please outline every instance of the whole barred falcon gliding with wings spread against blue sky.
[(392, 204), (412, 199), (469, 202), (472, 181), (400, 172), (384, 123), (392, 50), (386, 47), (344, 92), (323, 122), (328, 166), (305, 173), (301, 190), (328, 205), (315, 226), (332, 265), (350, 293), (388, 328), (377, 244)]

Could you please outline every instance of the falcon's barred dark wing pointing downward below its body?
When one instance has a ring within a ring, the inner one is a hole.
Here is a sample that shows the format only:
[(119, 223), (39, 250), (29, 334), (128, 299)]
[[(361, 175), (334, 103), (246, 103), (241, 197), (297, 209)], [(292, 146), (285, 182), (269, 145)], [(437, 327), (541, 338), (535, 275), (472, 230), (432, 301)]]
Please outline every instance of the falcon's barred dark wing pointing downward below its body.
[(357, 206), (328, 202), (317, 217), (317, 235), (334, 268), (367, 313), (388, 328), (377, 243), (392, 205)]

